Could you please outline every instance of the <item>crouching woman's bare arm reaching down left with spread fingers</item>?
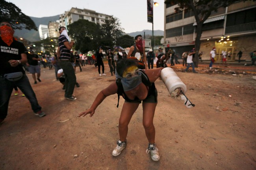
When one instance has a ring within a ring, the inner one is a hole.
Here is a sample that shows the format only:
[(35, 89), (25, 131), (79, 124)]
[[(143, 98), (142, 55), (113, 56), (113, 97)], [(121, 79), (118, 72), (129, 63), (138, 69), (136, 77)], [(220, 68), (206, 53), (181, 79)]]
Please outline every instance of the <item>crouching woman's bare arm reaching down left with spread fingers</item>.
[(107, 88), (100, 91), (100, 93), (98, 93), (97, 97), (95, 98), (95, 101), (91, 105), (91, 108), (87, 109), (85, 112), (80, 113), (78, 117), (85, 116), (87, 114), (90, 114), (90, 117), (92, 117), (98, 105), (100, 105), (100, 103), (104, 101), (106, 97), (115, 93), (117, 93), (117, 84), (113, 82)]

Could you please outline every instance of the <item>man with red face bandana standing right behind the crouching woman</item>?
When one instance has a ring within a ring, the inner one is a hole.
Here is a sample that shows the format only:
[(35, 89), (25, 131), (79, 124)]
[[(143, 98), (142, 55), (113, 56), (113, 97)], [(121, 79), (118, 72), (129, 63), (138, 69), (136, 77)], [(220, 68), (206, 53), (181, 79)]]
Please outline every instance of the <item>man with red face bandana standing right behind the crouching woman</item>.
[(145, 54), (145, 47), (143, 47), (142, 36), (136, 35), (134, 40), (135, 40), (135, 44), (130, 48), (127, 58), (136, 57), (138, 60), (142, 60), (142, 56), (143, 56), (143, 62), (146, 67), (145, 69), (147, 69), (147, 57)]

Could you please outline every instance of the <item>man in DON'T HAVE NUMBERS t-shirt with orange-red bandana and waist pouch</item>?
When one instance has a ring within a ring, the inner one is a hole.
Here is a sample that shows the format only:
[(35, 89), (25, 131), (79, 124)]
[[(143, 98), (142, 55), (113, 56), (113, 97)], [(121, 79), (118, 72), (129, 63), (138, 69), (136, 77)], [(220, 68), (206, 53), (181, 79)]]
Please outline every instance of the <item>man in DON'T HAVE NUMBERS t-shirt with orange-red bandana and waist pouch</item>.
[(24, 44), (13, 38), (13, 28), (9, 22), (0, 23), (0, 123), (7, 116), (8, 104), (14, 86), (17, 86), (30, 101), (35, 115), (45, 116), (37, 102), (22, 64), (27, 62)]

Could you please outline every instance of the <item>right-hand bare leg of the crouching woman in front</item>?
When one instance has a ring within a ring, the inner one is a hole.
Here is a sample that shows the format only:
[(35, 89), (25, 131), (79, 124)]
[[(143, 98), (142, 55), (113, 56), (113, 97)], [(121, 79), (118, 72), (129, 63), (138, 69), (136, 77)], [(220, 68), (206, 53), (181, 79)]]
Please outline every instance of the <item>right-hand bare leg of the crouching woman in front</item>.
[(155, 143), (155, 126), (153, 124), (154, 114), (156, 110), (157, 103), (144, 103), (142, 104), (143, 107), (143, 126), (145, 129), (145, 133), (148, 139), (148, 143), (154, 144)]

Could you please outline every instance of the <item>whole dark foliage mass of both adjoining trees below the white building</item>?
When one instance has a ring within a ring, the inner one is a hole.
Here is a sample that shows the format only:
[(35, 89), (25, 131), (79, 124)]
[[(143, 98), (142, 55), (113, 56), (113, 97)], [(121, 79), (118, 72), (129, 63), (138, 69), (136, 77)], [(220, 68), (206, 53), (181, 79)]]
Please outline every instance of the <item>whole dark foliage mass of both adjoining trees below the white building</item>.
[(113, 47), (122, 36), (119, 20), (113, 16), (100, 26), (88, 20), (80, 19), (68, 27), (69, 36), (75, 41), (74, 48), (82, 53), (97, 49), (99, 46)]

